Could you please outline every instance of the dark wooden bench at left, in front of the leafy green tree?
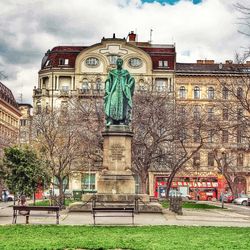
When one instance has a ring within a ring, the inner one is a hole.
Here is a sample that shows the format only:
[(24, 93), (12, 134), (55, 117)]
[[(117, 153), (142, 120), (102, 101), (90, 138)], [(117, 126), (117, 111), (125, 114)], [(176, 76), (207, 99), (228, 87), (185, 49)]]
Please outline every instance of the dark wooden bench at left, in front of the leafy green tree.
[(29, 224), (30, 211), (56, 212), (56, 224), (59, 224), (59, 206), (13, 206), (13, 221), (16, 224), (18, 211), (20, 215), (26, 216), (26, 224)]

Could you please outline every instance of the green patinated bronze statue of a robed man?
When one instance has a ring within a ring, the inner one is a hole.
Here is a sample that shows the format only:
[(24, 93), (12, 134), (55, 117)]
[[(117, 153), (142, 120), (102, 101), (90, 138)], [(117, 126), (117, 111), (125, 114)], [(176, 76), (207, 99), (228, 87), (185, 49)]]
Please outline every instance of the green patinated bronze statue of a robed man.
[(117, 69), (111, 70), (105, 81), (104, 106), (107, 127), (129, 125), (131, 121), (135, 79), (127, 70), (122, 69), (121, 58), (117, 59), (116, 65)]

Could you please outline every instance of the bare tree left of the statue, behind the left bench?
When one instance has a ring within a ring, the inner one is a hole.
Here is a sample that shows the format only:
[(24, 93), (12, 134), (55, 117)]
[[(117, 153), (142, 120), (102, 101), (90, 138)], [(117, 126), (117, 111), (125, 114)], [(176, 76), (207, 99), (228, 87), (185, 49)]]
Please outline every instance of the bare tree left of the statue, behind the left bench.
[(81, 158), (82, 128), (73, 109), (54, 109), (36, 114), (33, 128), (36, 133), (33, 145), (50, 169), (52, 184), (59, 189), (59, 204), (62, 205), (64, 183)]

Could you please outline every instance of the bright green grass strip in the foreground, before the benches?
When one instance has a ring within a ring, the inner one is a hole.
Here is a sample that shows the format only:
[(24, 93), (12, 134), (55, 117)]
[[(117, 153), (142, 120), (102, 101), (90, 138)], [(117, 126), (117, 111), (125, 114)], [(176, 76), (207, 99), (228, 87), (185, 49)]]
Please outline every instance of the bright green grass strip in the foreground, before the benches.
[(250, 228), (0, 226), (0, 249), (249, 249)]

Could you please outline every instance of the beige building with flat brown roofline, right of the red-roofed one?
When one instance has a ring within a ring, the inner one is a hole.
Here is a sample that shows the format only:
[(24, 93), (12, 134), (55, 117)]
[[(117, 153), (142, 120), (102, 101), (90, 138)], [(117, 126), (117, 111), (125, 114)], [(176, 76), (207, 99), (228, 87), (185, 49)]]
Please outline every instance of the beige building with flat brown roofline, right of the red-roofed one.
[[(239, 67), (243, 70), (239, 70)], [(225, 183), (221, 178), (221, 169), (217, 168), (214, 152), (227, 155), (228, 171), (233, 172), (234, 182), (238, 193), (250, 193), (250, 151), (249, 140), (244, 140), (241, 131), (235, 131), (237, 119), (243, 112), (233, 93), (226, 87), (234, 83), (240, 89), (242, 77), (250, 65), (233, 65), (231, 61), (214, 63), (213, 60), (198, 60), (197, 63), (176, 64), (176, 102), (188, 110), (194, 118), (205, 113), (208, 122), (218, 123), (218, 128), (207, 131), (206, 143), (195, 155), (190, 178), (182, 176), (180, 182), (192, 182), (192, 187), (209, 193), (217, 189), (217, 197)], [(249, 77), (249, 76), (247, 76)], [(237, 86), (239, 84), (239, 86)], [(219, 127), (220, 126), (220, 127)], [(232, 128), (233, 127), (233, 128)], [(195, 143), (196, 128), (193, 130)], [(219, 156), (218, 156), (219, 157)], [(199, 164), (195, 166), (194, 162)], [(229, 168), (228, 167), (228, 168)], [(198, 184), (195, 184), (195, 181)], [(203, 194), (204, 197), (206, 196)]]

